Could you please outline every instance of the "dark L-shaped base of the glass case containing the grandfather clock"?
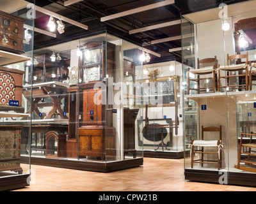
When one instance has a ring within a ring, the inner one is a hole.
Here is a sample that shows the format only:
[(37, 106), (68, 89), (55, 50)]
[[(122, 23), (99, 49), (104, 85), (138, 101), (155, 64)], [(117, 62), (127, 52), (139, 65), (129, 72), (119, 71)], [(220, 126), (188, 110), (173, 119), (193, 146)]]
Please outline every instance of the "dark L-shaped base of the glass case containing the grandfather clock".
[[(27, 162), (26, 156), (21, 156), (21, 163)], [(124, 170), (143, 165), (143, 158), (127, 159), (123, 161), (95, 162), (79, 161), (74, 159), (54, 159), (44, 157), (31, 157), (31, 164), (52, 166), (57, 168), (68, 168), (73, 170), (97, 171), (107, 173), (111, 171)]]

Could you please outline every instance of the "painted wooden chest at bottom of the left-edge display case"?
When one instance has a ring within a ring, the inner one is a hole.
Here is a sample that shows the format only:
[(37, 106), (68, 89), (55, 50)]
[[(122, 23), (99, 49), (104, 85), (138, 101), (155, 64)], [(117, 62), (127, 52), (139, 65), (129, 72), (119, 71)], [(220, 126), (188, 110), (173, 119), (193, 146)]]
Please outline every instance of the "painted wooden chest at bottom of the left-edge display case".
[(17, 171), (20, 167), (20, 140), (22, 126), (0, 126), (0, 171)]

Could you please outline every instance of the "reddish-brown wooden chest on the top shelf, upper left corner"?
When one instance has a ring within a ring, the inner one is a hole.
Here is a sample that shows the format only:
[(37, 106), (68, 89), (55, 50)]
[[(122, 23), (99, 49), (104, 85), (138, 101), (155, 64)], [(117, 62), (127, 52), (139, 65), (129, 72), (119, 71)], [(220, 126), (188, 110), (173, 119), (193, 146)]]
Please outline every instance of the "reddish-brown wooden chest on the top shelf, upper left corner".
[(26, 20), (0, 11), (0, 50), (23, 54), (23, 27)]

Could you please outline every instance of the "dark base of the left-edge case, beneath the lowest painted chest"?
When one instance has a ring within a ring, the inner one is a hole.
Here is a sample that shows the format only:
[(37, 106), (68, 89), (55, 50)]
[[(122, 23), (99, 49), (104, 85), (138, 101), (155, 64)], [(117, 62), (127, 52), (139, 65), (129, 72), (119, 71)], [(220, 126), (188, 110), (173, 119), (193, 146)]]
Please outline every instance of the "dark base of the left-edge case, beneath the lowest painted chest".
[(0, 177), (0, 191), (10, 191), (13, 189), (20, 189), (26, 186), (29, 186), (28, 184), (28, 173), (23, 174), (8, 174), (6, 176)]

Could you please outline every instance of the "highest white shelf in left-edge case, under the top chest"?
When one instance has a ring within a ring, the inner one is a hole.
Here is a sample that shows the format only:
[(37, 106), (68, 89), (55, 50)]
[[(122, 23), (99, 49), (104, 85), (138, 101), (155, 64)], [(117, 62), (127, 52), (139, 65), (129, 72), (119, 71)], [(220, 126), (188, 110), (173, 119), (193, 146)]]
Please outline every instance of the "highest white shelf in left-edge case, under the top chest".
[(30, 58), (24, 55), (13, 54), (11, 52), (0, 50), (0, 66), (16, 64), (19, 62), (26, 62), (29, 60)]

